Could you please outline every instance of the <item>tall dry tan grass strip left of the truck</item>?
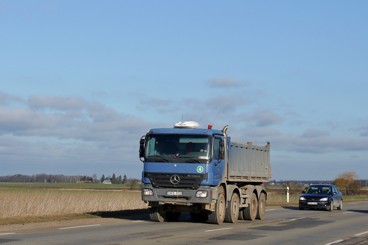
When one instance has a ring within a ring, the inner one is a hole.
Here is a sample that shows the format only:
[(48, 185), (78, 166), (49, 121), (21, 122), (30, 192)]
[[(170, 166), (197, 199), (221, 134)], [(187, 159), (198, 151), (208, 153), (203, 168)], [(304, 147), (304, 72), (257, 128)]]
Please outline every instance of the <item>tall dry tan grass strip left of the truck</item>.
[(0, 189), (0, 217), (142, 209), (140, 191)]

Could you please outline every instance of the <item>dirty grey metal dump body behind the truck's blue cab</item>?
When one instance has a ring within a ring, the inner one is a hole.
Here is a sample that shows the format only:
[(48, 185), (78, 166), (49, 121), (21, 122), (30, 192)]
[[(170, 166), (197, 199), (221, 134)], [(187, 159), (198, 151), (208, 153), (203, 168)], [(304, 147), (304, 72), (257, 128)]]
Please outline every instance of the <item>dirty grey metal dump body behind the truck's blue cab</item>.
[(229, 181), (268, 182), (272, 177), (270, 145), (230, 141)]

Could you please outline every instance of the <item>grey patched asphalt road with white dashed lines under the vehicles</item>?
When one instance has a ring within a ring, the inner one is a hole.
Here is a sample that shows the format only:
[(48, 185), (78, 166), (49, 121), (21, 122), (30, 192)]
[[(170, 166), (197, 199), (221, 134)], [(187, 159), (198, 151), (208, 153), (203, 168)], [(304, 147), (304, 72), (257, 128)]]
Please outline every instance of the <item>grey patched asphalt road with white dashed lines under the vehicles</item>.
[[(47, 245), (368, 245), (368, 202), (344, 203), (343, 210), (269, 208), (265, 219), (209, 224), (182, 213), (176, 222), (119, 220), (0, 233), (0, 244)], [(11, 234), (7, 234), (11, 233)]]

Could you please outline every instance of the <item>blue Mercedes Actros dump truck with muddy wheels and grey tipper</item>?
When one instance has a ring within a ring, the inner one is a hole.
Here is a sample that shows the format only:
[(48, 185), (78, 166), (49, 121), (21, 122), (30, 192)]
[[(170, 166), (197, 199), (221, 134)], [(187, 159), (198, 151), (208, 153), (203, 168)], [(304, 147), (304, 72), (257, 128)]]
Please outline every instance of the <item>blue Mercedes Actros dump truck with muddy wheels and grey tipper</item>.
[(233, 142), (227, 128), (177, 122), (142, 136), (142, 200), (152, 221), (176, 221), (181, 212), (211, 224), (263, 219), (263, 182), (272, 177), (270, 143)]

